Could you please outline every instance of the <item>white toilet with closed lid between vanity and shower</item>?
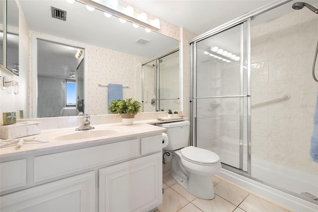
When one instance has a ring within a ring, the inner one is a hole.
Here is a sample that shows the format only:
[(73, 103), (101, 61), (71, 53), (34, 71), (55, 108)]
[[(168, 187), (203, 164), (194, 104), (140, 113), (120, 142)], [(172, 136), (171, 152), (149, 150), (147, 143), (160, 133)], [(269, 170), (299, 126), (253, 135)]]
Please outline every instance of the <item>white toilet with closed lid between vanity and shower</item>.
[(168, 144), (163, 150), (172, 152), (171, 175), (190, 194), (212, 200), (212, 175), (221, 170), (220, 157), (206, 149), (188, 145), (189, 121), (159, 123), (166, 128)]

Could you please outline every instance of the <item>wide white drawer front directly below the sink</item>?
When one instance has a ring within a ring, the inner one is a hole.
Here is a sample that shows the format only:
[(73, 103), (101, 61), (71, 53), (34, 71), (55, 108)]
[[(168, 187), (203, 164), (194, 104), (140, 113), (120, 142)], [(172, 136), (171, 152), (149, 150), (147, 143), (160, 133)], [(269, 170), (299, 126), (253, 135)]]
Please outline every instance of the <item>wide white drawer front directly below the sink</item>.
[(132, 139), (34, 158), (34, 182), (47, 180), (139, 156), (139, 141)]

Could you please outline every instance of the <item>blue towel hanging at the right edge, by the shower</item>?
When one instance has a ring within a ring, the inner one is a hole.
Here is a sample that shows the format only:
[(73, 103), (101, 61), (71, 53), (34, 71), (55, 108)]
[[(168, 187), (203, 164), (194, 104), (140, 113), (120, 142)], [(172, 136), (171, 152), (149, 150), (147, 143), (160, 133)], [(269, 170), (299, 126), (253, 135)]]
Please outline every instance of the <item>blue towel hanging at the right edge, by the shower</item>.
[(316, 108), (314, 113), (314, 129), (313, 129), (313, 135), (311, 138), (309, 154), (311, 159), (318, 163), (318, 92), (317, 92)]

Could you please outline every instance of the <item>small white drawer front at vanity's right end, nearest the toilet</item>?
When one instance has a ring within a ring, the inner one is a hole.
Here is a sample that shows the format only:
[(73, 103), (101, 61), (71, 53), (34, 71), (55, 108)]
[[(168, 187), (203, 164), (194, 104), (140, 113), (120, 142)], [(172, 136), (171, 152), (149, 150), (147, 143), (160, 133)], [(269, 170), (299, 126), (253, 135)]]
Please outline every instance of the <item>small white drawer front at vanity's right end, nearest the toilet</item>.
[(162, 135), (149, 136), (141, 139), (141, 154), (162, 150)]

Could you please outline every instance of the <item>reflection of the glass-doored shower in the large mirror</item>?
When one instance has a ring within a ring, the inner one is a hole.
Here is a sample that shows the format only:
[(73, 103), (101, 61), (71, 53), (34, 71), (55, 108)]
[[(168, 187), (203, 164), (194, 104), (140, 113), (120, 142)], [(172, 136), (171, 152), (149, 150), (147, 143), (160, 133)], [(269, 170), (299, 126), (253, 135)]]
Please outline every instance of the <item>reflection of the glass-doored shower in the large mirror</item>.
[(143, 112), (180, 110), (179, 49), (143, 64)]

